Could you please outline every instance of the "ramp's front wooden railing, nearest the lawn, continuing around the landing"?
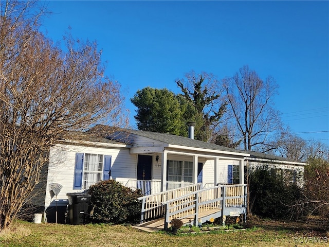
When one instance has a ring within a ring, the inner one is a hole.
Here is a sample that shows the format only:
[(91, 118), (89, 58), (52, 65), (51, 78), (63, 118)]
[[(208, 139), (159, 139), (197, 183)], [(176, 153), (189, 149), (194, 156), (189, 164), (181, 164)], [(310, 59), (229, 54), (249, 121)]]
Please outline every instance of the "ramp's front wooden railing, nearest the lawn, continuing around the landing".
[(222, 210), (226, 207), (246, 207), (246, 185), (218, 185), (173, 198), (162, 205), (165, 207), (165, 229), (171, 219), (193, 219), (197, 225), (199, 214), (210, 210)]

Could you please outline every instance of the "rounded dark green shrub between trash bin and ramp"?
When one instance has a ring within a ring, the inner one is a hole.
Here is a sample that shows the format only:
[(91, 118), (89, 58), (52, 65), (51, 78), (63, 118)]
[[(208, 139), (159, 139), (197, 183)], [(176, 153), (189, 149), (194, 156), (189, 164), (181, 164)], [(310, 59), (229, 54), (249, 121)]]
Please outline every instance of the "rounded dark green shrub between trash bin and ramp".
[(140, 190), (133, 191), (114, 180), (90, 186), (90, 221), (94, 223), (138, 223)]

